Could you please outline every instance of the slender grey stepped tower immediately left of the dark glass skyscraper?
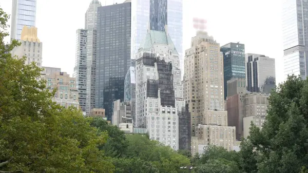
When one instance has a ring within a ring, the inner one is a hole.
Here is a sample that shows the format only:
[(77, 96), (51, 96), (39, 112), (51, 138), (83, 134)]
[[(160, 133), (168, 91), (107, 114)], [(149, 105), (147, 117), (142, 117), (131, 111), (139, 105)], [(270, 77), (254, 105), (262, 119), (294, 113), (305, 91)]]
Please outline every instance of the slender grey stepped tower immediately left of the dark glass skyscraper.
[(97, 13), (101, 3), (92, 0), (85, 13), (85, 29), (76, 31), (76, 61), (73, 76), (77, 80), (79, 101), (86, 114), (95, 107), (97, 59)]

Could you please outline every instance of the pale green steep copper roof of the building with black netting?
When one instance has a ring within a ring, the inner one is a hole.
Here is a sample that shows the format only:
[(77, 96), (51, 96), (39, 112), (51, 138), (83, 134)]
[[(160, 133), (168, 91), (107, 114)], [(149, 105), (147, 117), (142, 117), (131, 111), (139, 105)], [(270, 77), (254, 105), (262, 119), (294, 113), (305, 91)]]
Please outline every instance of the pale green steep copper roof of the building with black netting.
[(168, 45), (169, 50), (178, 53), (170, 35), (164, 31), (150, 30), (147, 32), (144, 40), (141, 42), (140, 48), (143, 48), (143, 50), (150, 50), (154, 43)]

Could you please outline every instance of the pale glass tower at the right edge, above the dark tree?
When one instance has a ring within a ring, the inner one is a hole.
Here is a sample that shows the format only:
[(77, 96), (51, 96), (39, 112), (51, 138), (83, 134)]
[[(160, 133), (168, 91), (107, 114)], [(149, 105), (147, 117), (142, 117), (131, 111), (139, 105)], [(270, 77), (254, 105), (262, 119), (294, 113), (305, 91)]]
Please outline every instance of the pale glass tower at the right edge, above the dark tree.
[(282, 35), (284, 76), (308, 73), (308, 2), (304, 0), (282, 1)]

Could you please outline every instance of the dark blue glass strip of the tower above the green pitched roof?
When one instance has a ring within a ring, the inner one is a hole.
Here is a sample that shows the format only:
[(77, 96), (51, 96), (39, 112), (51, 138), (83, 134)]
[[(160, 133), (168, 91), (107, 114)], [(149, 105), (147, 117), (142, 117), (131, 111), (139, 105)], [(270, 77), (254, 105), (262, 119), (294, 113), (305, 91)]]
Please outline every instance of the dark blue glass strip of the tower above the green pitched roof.
[(167, 0), (150, 0), (150, 29), (165, 31), (167, 25)]

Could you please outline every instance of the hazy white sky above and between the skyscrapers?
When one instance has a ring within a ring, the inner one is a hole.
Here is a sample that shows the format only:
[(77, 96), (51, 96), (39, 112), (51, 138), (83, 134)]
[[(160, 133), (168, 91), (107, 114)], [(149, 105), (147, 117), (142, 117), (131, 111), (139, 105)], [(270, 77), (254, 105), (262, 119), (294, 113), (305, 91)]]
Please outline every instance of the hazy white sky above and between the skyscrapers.
[[(43, 66), (60, 67), (72, 75), (75, 31), (84, 28), (90, 2), (37, 0), (36, 27), (38, 38), (43, 42)], [(113, 2), (124, 0), (101, 1), (102, 5)], [(11, 14), (12, 0), (0, 0), (0, 8)], [(245, 44), (245, 53), (275, 58), (277, 82), (283, 80), (281, 0), (183, 0), (183, 51), (189, 48), (190, 39), (196, 34), (193, 17), (207, 20), (207, 32), (221, 46), (240, 42)], [(6, 39), (9, 41), (9, 37)]]

